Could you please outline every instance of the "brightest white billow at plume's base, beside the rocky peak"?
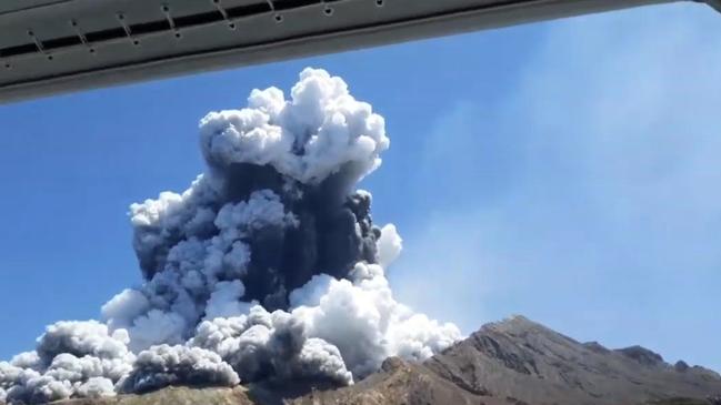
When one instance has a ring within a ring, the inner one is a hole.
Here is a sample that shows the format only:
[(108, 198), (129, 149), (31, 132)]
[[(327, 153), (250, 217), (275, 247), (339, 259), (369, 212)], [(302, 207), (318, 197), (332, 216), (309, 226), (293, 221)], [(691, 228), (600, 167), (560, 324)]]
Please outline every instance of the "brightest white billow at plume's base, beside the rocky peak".
[[(336, 345), (353, 374), (369, 374), (392, 355), (422, 361), (461, 338), (457, 326), (439, 324), (398, 303), (381, 266), (359, 263), (352, 277), (352, 282), (311, 281), (312, 292), (297, 295), (292, 315), (306, 324), (309, 336)], [(322, 294), (319, 285), (327, 287)]]

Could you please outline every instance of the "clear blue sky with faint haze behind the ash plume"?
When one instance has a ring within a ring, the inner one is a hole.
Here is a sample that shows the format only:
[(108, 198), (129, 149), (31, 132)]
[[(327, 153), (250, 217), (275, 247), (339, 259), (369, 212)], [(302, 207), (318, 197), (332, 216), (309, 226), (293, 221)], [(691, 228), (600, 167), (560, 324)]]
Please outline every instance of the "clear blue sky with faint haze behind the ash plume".
[(362, 186), (404, 237), (402, 302), (721, 371), (721, 18), (698, 4), (0, 107), (0, 358), (138, 284), (129, 204), (202, 171), (207, 111), (307, 65), (387, 119)]

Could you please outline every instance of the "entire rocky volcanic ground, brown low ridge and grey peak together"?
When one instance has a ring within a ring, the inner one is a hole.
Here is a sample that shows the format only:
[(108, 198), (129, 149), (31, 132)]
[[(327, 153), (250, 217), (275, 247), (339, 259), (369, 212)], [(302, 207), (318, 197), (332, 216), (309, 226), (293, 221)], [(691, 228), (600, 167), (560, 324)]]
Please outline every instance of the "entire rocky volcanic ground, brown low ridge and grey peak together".
[(58, 405), (721, 405), (721, 376), (640, 346), (580, 343), (522, 316), (487, 324), (423, 364), (389, 358), (356, 385), (168, 387)]

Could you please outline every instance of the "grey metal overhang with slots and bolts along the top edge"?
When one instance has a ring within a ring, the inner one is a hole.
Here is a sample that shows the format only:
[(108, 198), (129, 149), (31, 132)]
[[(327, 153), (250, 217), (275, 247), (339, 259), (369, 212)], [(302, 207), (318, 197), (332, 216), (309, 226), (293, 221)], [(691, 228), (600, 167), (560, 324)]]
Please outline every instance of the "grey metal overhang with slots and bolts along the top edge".
[(668, 1), (2, 0), (0, 102)]

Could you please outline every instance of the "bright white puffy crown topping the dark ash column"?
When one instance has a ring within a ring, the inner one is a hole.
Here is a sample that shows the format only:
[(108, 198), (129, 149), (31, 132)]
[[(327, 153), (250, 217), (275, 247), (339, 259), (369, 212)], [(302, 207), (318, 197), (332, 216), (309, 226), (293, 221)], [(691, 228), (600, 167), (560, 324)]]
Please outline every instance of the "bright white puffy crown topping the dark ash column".
[(248, 108), (208, 114), (200, 122), (206, 159), (221, 166), (270, 164), (302, 183), (319, 183), (347, 163), (358, 164), (360, 176), (380, 165), (390, 143), (383, 118), (340, 78), (306, 69), (290, 95), (256, 90)]

